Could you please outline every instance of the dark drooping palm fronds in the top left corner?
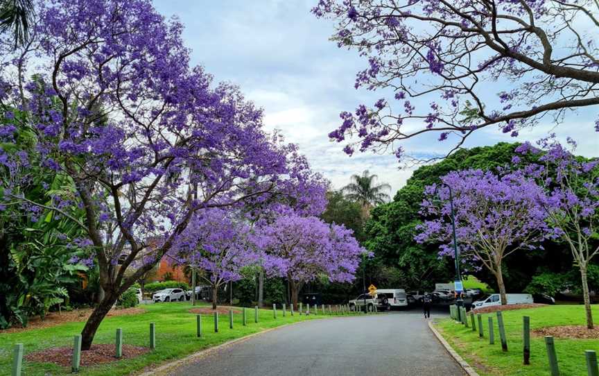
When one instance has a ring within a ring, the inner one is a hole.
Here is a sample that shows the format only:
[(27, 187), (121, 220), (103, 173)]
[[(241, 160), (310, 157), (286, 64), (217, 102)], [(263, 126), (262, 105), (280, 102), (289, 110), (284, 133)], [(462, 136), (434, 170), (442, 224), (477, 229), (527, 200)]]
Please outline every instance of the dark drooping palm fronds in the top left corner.
[(12, 31), (15, 48), (29, 39), (33, 0), (0, 0), (0, 33)]

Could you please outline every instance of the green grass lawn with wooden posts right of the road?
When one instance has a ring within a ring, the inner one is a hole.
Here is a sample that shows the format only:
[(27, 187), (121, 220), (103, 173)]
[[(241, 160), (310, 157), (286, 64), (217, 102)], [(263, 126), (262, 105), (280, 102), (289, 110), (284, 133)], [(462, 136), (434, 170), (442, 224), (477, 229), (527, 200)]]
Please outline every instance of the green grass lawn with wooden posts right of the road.
[[(489, 345), (489, 316), (494, 321), (494, 345)], [(478, 331), (472, 332), (471, 327), (455, 323), (450, 318), (438, 321), (435, 327), (480, 375), (550, 375), (543, 337), (531, 336), (530, 365), (522, 364), (522, 316), (530, 316), (531, 331), (557, 325), (586, 325), (582, 305), (503, 311), (507, 352), (501, 351), (496, 314), (483, 314), (483, 339), (478, 338)], [(596, 320), (599, 318), (599, 305), (593, 305), (593, 316)], [(561, 375), (587, 375), (584, 350), (599, 352), (599, 339), (555, 339), (555, 350)]]

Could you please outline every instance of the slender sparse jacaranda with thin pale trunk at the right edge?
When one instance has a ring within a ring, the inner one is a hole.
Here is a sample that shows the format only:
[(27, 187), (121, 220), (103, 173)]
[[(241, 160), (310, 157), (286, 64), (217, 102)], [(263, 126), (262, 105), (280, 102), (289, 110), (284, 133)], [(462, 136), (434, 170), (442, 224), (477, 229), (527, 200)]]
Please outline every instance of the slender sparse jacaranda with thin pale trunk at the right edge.
[[(575, 148), (573, 140), (568, 142)], [(546, 190), (542, 207), (547, 222), (568, 245), (580, 270), (587, 327), (593, 329), (587, 272), (593, 257), (599, 255), (599, 160), (576, 157), (553, 138), (541, 139), (539, 148), (527, 142), (516, 151), (523, 155), (542, 152), (539, 164), (523, 166), (523, 170)], [(519, 157), (514, 162), (519, 163)]]

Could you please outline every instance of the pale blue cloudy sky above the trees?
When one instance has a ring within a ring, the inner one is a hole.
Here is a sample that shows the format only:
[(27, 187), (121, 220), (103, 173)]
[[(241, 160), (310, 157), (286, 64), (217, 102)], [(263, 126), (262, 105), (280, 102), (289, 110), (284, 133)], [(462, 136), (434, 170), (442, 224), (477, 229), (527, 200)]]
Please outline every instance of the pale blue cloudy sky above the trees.
[[(333, 24), (316, 19), (309, 10), (316, 0), (155, 0), (166, 17), (179, 17), (184, 40), (194, 65), (202, 65), (216, 80), (239, 85), (245, 96), (264, 108), (269, 129), (278, 128), (288, 142), (299, 144), (313, 169), (334, 188), (365, 169), (401, 188), (412, 168), (399, 169), (392, 155), (356, 153), (348, 157), (342, 144), (327, 134), (339, 126), (339, 112), (359, 103), (374, 103), (379, 93), (354, 89), (354, 77), (367, 62), (356, 51), (338, 49), (329, 41)], [(551, 124), (523, 131), (513, 139), (497, 128), (481, 130), (466, 146), (500, 141), (535, 140), (555, 131), (579, 142), (578, 153), (599, 155), (599, 135), (593, 132), (597, 114), (574, 113), (556, 129)], [(445, 147), (434, 137), (410, 141), (405, 148), (415, 155), (437, 155)], [(449, 145), (448, 145), (449, 146)]]

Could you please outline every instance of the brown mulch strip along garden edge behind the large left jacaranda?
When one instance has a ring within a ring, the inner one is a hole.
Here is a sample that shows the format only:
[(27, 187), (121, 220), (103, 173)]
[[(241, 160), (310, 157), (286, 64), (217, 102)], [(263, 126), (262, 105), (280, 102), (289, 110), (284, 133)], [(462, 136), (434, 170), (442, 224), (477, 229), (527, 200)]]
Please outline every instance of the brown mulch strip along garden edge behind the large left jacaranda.
[[(19, 325), (15, 325), (5, 330), (0, 330), (0, 334), (2, 333), (16, 333), (16, 332), (25, 332), (27, 330), (33, 329), (43, 329), (45, 327), (53, 327), (56, 325), (64, 324), (64, 323), (72, 323), (74, 321), (87, 321), (87, 318), (90, 314), (92, 314), (93, 309), (91, 308), (83, 308), (83, 309), (73, 309), (72, 311), (62, 311), (62, 312), (49, 312), (46, 314), (44, 319), (42, 320), (40, 316), (34, 316), (29, 318), (29, 323), (26, 327), (22, 327)], [(146, 312), (146, 309), (140, 307), (132, 307), (132, 308), (124, 308), (124, 309), (116, 309), (113, 308), (108, 311), (106, 316), (122, 316), (122, 315), (135, 315), (135, 314), (143, 314)]]

